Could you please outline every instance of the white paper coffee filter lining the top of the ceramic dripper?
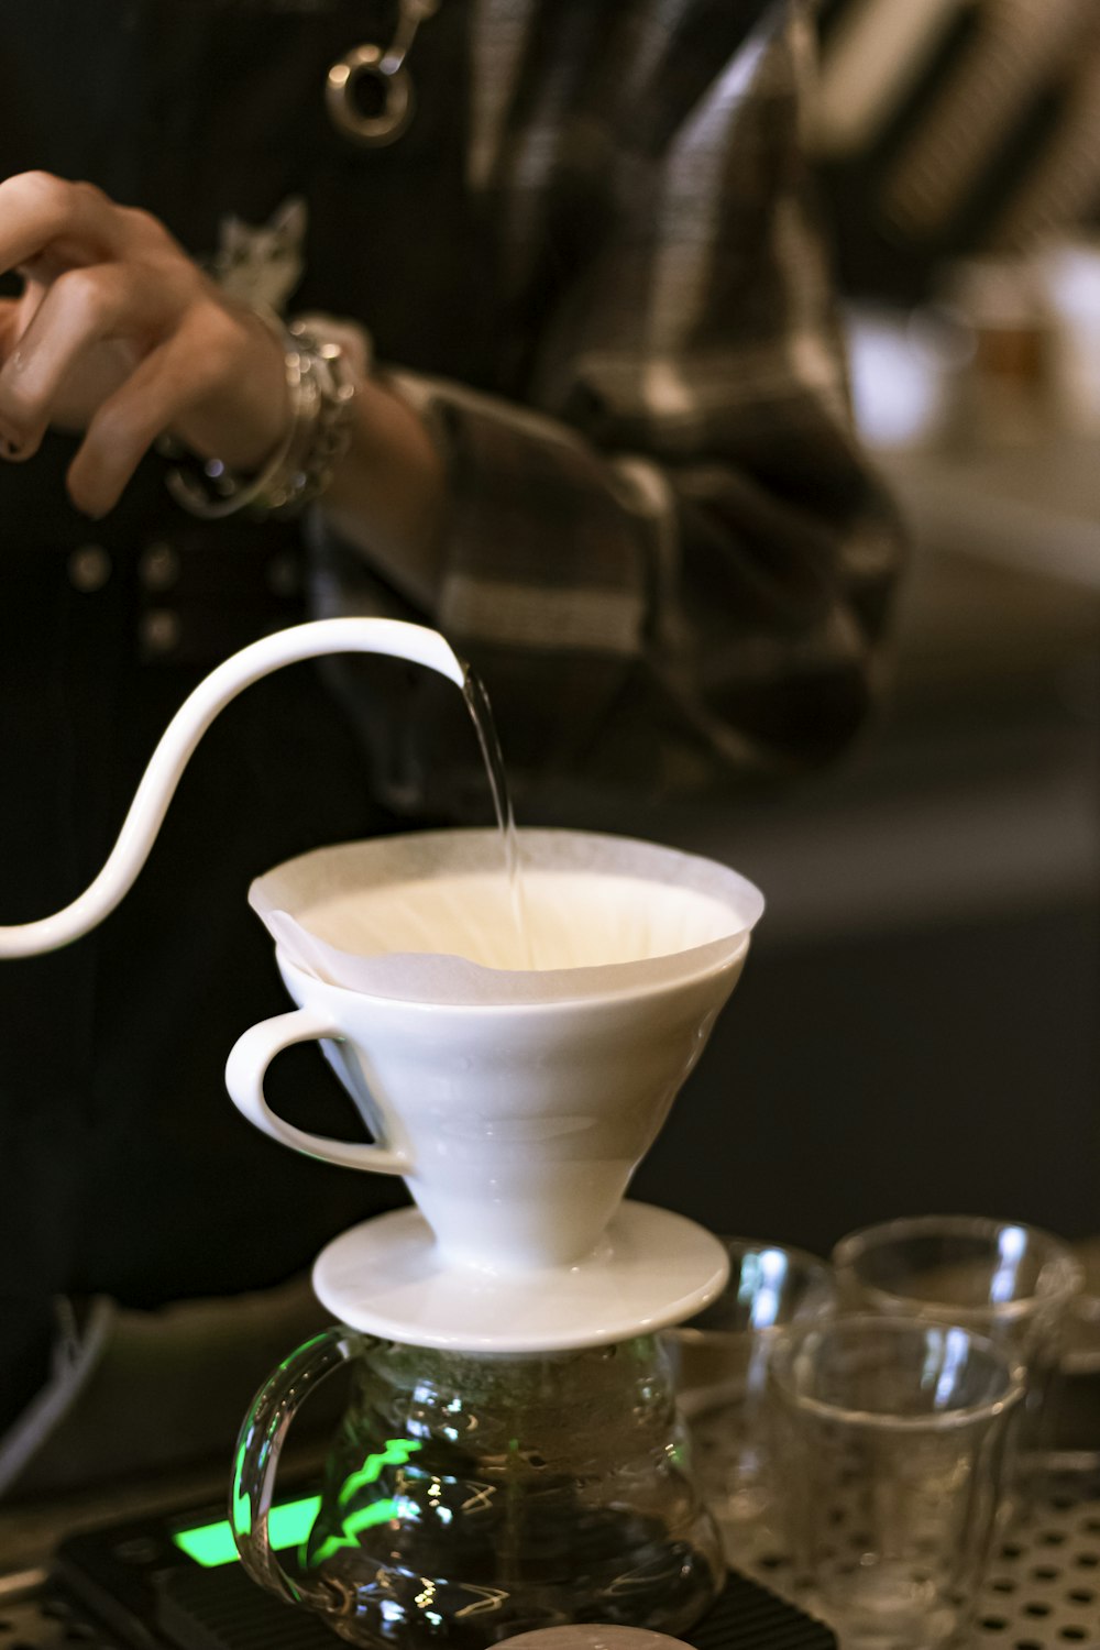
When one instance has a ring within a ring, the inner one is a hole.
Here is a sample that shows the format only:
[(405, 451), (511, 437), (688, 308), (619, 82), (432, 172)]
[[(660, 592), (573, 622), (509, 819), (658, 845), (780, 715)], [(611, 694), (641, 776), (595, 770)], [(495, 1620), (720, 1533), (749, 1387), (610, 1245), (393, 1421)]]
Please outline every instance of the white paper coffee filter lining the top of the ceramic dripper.
[(299, 969), (371, 997), (544, 1003), (640, 990), (727, 960), (764, 911), (712, 860), (590, 832), (419, 832), (289, 860), (249, 901)]

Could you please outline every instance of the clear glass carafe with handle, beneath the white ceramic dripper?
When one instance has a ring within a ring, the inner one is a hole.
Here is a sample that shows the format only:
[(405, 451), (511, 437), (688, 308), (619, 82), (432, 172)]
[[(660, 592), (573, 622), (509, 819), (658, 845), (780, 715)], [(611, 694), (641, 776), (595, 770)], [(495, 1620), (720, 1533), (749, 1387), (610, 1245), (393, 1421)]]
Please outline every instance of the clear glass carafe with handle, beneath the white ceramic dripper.
[[(350, 1366), (313, 1528), (272, 1553), (279, 1447)], [(345, 1328), (302, 1346), (244, 1422), (233, 1523), (249, 1572), (355, 1643), (482, 1647), (569, 1620), (691, 1627), (722, 1582), (653, 1336), (477, 1355)]]

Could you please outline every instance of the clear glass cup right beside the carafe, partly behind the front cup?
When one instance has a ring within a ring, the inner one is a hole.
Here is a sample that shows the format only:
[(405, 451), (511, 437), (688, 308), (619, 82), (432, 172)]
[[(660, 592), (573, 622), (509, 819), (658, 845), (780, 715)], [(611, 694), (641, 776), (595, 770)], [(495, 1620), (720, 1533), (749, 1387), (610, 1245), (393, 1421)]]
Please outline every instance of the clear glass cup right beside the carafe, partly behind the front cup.
[(668, 1346), (688, 1424), (696, 1485), (722, 1531), (726, 1558), (747, 1566), (772, 1543), (775, 1472), (767, 1368), (780, 1330), (833, 1310), (826, 1261), (759, 1239), (724, 1238), (729, 1284)]

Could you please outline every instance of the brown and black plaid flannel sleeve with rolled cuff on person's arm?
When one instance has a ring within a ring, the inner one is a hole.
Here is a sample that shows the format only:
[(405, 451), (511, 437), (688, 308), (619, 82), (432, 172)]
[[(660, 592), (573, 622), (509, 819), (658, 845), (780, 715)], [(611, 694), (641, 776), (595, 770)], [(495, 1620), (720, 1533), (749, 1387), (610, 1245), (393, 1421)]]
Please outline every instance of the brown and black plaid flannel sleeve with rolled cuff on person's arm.
[[(899, 536), (806, 205), (806, 25), (757, 7), (716, 51), (739, 10), (650, 40), (645, 129), (604, 134), (612, 228), (544, 317), (524, 404), (402, 380), (452, 474), (430, 617), (483, 675), (521, 797), (524, 772), (683, 795), (797, 771), (874, 698)], [(544, 119), (513, 175), (552, 152)]]

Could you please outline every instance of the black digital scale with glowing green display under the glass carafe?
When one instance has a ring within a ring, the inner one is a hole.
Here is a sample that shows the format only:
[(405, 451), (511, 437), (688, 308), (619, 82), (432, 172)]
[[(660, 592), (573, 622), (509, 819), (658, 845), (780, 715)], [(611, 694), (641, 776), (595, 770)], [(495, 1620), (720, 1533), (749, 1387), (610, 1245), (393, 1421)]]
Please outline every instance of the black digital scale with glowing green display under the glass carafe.
[[(318, 1498), (292, 1495), (270, 1516), (272, 1546), (308, 1533)], [(732, 1574), (696, 1650), (836, 1650), (836, 1638), (767, 1587)], [(292, 1609), (242, 1569), (224, 1505), (185, 1508), (61, 1541), (48, 1581), (0, 1587), (0, 1650), (333, 1650), (320, 1615)]]

